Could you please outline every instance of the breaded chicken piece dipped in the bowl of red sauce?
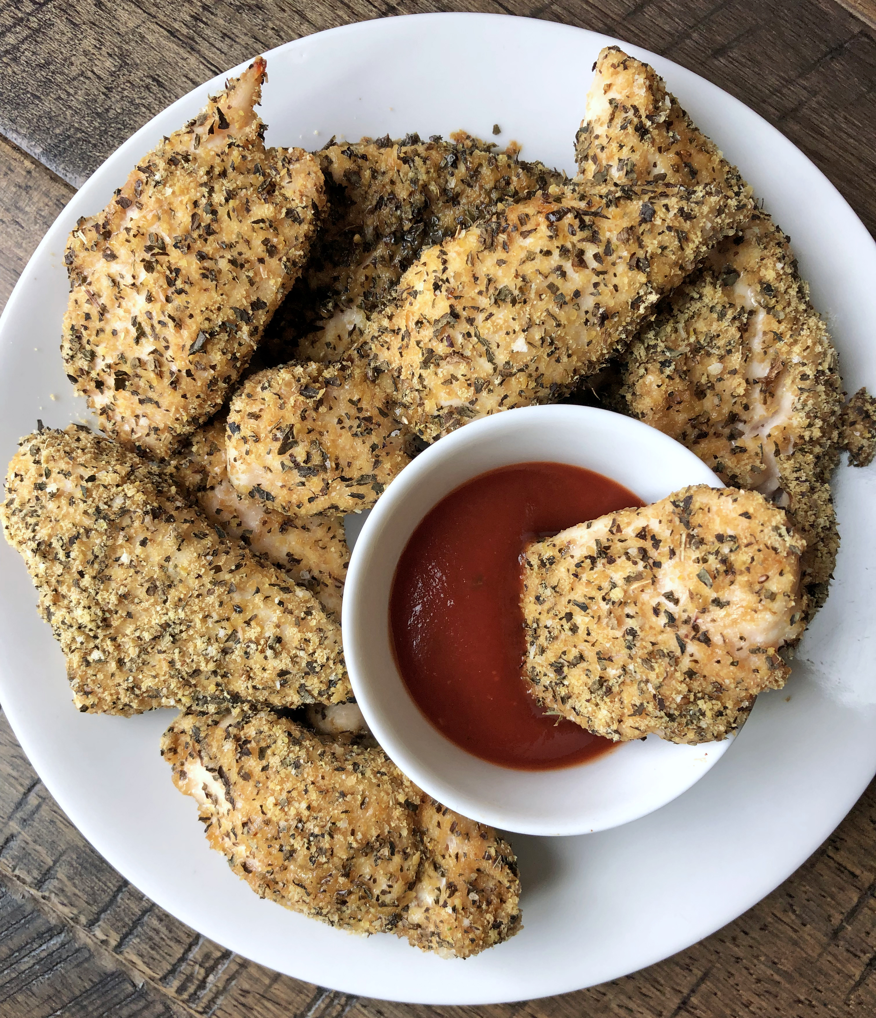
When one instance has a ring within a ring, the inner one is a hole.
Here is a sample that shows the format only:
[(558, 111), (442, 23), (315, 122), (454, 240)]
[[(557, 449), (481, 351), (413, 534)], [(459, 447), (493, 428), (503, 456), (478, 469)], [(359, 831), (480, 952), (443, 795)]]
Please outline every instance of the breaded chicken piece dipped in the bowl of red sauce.
[(723, 739), (791, 669), (803, 543), (757, 492), (685, 488), (524, 553), (533, 696), (616, 741)]

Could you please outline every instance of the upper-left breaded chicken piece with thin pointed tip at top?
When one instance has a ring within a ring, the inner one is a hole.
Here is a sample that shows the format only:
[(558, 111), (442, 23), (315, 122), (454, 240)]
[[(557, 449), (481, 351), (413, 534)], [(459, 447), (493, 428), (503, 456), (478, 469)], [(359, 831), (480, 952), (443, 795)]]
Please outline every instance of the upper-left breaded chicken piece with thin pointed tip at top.
[(325, 205), (312, 156), (265, 148), (265, 66), (162, 138), (68, 241), (68, 377), (108, 435), (156, 456), (220, 408)]

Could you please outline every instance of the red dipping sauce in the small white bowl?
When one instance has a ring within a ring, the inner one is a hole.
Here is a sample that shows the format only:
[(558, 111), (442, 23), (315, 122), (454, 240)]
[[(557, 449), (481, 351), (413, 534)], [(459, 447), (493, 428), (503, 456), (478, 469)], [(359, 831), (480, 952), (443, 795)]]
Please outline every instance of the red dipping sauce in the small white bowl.
[(641, 505), (591, 470), (518, 463), (466, 482), (421, 520), (396, 568), (390, 635), (405, 685), (439, 731), (521, 771), (569, 767), (615, 745), (545, 715), (526, 691), (519, 558), (534, 539)]

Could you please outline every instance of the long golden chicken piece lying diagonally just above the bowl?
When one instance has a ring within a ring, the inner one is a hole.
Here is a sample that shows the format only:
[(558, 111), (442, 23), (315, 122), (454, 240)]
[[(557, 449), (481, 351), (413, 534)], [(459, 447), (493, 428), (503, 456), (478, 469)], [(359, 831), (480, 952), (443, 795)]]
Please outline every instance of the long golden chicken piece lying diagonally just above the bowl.
[(426, 441), (556, 401), (602, 366), (724, 233), (746, 188), (553, 186), (424, 251), (360, 352)]

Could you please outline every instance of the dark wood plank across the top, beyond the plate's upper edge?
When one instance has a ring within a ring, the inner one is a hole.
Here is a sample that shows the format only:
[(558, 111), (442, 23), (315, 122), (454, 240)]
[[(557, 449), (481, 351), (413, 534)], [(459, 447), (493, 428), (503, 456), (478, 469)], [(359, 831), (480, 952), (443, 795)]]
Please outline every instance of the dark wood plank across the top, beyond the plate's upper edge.
[[(0, 8), (0, 133), (78, 185), (192, 87), (289, 39), (388, 13), (479, 9), (578, 24), (655, 50), (779, 127), (876, 231), (874, 0), (22, 0)], [(415, 124), (411, 125), (413, 128)]]

